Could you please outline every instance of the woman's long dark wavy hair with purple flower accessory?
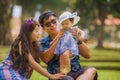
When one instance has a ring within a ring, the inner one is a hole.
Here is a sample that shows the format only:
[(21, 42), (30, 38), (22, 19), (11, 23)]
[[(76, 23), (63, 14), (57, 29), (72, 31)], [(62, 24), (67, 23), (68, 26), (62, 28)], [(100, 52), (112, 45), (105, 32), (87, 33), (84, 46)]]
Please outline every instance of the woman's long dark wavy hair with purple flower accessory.
[[(20, 33), (11, 46), (11, 59), (13, 62), (13, 68), (18, 69), (22, 62), (22, 68), (26, 70), (29, 66), (28, 54), (31, 53), (36, 62), (40, 62), (40, 46), (38, 42), (31, 42), (30, 34), (39, 24), (34, 20), (26, 20), (23, 22)], [(21, 53), (19, 51), (19, 44), (21, 43)]]

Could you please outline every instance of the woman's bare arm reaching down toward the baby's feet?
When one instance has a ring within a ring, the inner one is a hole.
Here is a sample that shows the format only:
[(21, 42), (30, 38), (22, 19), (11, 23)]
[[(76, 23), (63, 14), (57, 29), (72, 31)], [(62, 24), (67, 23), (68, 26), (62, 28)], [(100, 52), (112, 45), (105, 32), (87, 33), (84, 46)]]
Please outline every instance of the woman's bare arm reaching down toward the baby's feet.
[(40, 74), (50, 78), (50, 79), (61, 79), (63, 77), (63, 75), (61, 74), (55, 74), (52, 75), (50, 73), (48, 73), (47, 71), (45, 71), (32, 57), (32, 55), (29, 53), (28, 54), (28, 61), (30, 66), (36, 70), (37, 72), (39, 72)]

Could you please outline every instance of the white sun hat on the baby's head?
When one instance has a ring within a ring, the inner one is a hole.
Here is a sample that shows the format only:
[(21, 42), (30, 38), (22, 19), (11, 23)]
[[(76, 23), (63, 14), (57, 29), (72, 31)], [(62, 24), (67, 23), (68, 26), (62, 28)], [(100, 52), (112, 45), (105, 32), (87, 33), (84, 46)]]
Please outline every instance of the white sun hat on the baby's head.
[(59, 22), (60, 22), (60, 24), (61, 24), (64, 20), (69, 19), (69, 18), (74, 18), (74, 23), (73, 23), (73, 25), (77, 24), (78, 21), (80, 20), (80, 17), (77, 16), (77, 12), (70, 13), (70, 12), (66, 11), (66, 12), (62, 13), (62, 14), (60, 15), (60, 17), (59, 17)]

